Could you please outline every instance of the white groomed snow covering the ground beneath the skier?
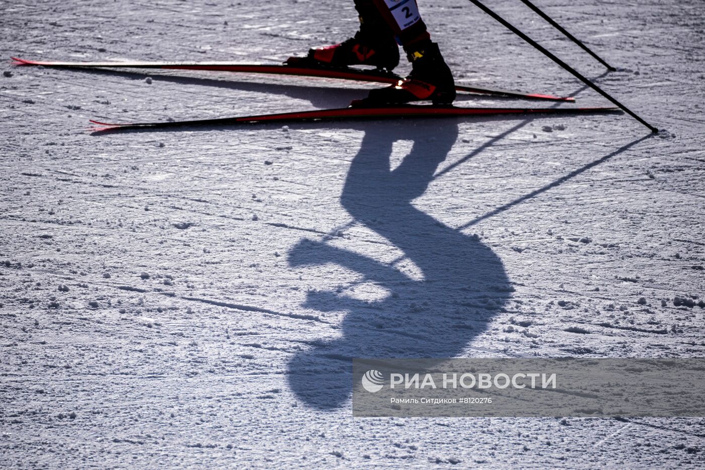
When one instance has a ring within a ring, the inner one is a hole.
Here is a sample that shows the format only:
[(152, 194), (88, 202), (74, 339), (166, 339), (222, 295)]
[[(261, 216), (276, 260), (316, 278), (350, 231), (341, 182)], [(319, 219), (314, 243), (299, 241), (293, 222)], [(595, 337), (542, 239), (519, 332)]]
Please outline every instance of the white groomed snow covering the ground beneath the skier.
[[(419, 3), (459, 83), (608, 104), (471, 4)], [(340, 107), (375, 85), (7, 61), (3, 466), (701, 468), (702, 418), (351, 416), (355, 356), (705, 352), (705, 4), (539, 2), (614, 73), (519, 2), (488, 4), (666, 131), (623, 115), (91, 135), (88, 119)], [(0, 8), (3, 60), (281, 61), (357, 21), (333, 0)]]

